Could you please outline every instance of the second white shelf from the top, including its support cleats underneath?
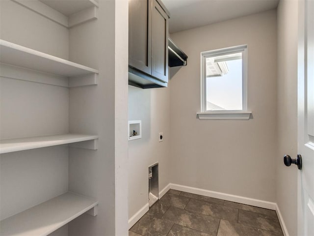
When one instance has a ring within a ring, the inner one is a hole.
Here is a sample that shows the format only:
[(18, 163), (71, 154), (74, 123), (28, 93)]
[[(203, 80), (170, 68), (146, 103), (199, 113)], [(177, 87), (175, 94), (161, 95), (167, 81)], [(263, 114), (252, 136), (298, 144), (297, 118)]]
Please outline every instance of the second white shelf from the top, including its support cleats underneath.
[(99, 71), (0, 39), (0, 76), (63, 86), (97, 85)]

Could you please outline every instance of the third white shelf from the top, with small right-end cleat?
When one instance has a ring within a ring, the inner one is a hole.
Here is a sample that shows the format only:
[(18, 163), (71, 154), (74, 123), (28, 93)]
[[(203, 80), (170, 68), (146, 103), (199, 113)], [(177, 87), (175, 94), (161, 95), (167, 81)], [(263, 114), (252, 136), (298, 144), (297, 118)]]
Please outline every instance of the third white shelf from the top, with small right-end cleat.
[[(92, 141), (92, 144), (86, 144), (85, 141)], [(21, 139), (6, 139), (0, 140), (0, 153), (22, 151), (34, 148), (45, 148), (78, 142), (84, 143), (82, 147), (75, 145), (73, 145), (73, 147), (97, 149), (97, 141), (97, 135), (86, 134), (58, 134)]]

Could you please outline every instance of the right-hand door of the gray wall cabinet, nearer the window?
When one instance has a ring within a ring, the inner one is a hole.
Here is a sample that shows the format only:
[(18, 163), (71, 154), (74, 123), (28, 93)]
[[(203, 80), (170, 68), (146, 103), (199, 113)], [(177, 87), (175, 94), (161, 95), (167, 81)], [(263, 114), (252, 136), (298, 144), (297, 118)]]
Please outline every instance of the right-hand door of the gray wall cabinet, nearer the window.
[(168, 82), (168, 16), (156, 0), (152, 9), (152, 76)]

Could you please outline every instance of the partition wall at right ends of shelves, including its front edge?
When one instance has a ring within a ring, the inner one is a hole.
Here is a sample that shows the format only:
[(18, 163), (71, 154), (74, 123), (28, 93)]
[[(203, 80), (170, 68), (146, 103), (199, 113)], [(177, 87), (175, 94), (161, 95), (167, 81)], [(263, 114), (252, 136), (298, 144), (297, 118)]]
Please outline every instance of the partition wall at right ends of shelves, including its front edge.
[(99, 1), (99, 18), (70, 29), (70, 59), (98, 68), (97, 86), (70, 89), (70, 131), (99, 135), (98, 150), (69, 150), (69, 190), (99, 201), (70, 236), (128, 235), (128, 1)]

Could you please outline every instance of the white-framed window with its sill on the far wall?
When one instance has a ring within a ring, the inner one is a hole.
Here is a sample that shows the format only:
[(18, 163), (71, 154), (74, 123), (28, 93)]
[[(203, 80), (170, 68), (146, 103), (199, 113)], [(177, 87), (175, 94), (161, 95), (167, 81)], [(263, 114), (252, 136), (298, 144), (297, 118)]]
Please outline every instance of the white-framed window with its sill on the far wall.
[(241, 45), (201, 53), (200, 119), (204, 118), (204, 114), (221, 119), (250, 117), (251, 112), (247, 112), (246, 51), (247, 46)]

